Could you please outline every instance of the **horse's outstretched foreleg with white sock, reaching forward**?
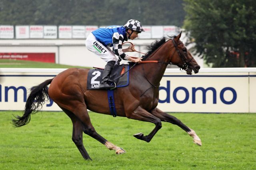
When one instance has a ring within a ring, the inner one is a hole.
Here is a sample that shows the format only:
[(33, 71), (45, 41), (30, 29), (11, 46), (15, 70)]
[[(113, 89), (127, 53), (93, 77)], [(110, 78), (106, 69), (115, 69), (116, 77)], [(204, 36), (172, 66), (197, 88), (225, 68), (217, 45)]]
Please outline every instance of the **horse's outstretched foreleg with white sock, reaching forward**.
[(184, 125), (179, 119), (176, 117), (169, 115), (163, 111), (161, 111), (158, 108), (155, 108), (154, 110), (151, 111), (152, 115), (158, 117), (161, 121), (169, 122), (174, 125), (178, 125), (180, 128), (182, 128), (184, 131), (188, 133), (191, 137), (193, 137), (193, 142), (199, 146), (202, 146), (201, 139), (196, 135), (196, 132), (186, 125)]

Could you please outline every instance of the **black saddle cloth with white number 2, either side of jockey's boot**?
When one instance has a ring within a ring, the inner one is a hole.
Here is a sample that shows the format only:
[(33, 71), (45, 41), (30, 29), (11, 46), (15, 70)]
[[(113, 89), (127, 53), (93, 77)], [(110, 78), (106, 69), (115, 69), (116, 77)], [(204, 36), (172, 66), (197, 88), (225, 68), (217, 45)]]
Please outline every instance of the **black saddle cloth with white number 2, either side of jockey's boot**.
[[(125, 87), (129, 84), (129, 72), (126, 72), (129, 70), (128, 64), (121, 64), (121, 65), (115, 65), (112, 72), (110, 79), (114, 80), (116, 82), (116, 87)], [(90, 69), (87, 77), (87, 89), (99, 89), (100, 83), (102, 79), (102, 69)], [(126, 72), (124, 74), (124, 72)], [(124, 74), (123, 76), (121, 76)], [(120, 76), (120, 77), (119, 77)], [(119, 77), (119, 78), (118, 78)]]

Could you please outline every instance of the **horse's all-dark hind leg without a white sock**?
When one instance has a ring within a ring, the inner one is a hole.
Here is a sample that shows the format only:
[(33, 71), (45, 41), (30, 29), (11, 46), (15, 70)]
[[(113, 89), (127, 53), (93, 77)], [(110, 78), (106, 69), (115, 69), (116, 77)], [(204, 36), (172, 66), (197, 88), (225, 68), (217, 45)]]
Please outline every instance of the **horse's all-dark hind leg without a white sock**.
[(83, 144), (83, 125), (82, 122), (69, 110), (61, 108), (67, 115), (70, 117), (73, 123), (73, 133), (72, 133), (72, 141), (75, 143), (76, 147), (82, 154), (83, 158), (86, 160), (92, 160), (84, 148)]

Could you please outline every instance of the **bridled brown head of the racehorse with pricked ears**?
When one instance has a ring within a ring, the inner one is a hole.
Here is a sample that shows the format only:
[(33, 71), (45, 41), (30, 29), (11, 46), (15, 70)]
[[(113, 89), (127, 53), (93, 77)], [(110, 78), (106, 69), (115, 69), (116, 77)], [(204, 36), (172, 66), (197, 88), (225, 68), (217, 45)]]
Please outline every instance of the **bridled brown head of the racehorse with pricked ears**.
[(183, 70), (186, 70), (187, 74), (198, 73), (200, 66), (196, 60), (192, 57), (191, 53), (187, 50), (186, 46), (180, 41), (181, 33), (177, 36), (174, 36), (171, 40), (175, 51), (170, 55), (170, 62), (174, 65), (179, 66)]

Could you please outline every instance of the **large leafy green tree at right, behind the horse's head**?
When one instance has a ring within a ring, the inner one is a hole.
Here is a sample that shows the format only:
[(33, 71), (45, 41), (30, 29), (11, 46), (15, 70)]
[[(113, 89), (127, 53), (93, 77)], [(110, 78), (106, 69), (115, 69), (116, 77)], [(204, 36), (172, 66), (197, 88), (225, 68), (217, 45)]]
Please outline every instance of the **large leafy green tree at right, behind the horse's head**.
[(213, 67), (256, 66), (254, 0), (184, 0), (184, 27)]

